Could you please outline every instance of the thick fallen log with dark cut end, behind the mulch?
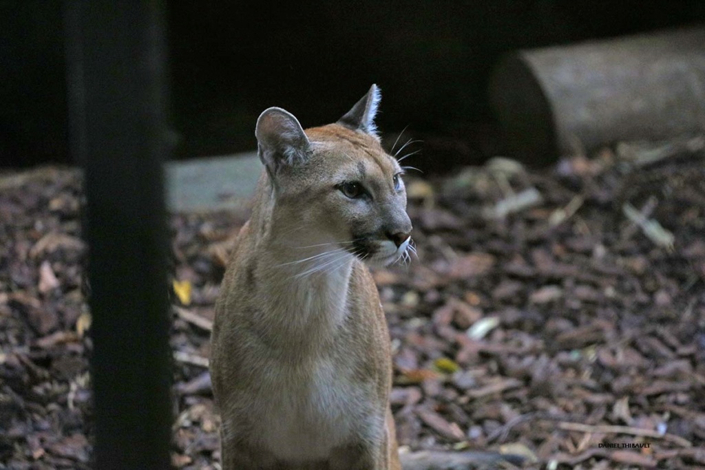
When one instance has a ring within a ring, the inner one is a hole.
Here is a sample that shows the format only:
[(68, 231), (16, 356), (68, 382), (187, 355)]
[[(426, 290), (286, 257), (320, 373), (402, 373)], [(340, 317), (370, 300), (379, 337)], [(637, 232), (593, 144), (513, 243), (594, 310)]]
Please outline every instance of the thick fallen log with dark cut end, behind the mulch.
[(604, 144), (705, 133), (705, 27), (517, 51), (491, 105), (525, 161)]

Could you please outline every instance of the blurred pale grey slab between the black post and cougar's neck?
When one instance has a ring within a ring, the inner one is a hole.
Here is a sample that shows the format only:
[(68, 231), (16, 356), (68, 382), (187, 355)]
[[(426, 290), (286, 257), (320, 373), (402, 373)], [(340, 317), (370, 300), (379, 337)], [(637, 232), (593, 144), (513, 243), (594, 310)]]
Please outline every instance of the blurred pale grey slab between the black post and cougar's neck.
[(241, 209), (255, 194), (262, 163), (257, 152), (166, 164), (167, 206), (171, 212)]

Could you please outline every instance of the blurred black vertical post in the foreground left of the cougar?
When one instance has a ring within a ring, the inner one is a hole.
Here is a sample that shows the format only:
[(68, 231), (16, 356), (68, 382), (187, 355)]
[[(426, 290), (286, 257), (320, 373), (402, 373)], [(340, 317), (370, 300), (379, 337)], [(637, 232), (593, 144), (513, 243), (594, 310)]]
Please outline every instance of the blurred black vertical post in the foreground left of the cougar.
[(85, 167), (97, 469), (170, 466), (164, 9), (69, 0), (75, 161)]

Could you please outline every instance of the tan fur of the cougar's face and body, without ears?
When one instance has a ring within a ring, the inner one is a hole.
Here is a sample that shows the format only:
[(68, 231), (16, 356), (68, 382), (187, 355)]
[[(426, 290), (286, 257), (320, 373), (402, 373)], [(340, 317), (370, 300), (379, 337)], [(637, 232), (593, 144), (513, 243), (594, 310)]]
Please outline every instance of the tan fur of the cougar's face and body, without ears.
[[(343, 251), (364, 235), (383, 253), (389, 233), (410, 232), (400, 168), (367, 132), (305, 134), (305, 161), (262, 173), (216, 303), (223, 470), (400, 469), (384, 312), (367, 266)], [(369, 201), (336, 186), (361, 175)], [(329, 265), (305, 275), (315, 263)]]

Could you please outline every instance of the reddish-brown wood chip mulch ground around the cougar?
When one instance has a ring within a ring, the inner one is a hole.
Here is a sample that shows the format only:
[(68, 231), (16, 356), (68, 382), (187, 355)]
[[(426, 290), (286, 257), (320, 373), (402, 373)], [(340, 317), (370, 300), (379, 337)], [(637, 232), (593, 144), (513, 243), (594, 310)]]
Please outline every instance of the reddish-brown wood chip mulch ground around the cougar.
[[(374, 273), (401, 445), (544, 469), (705, 467), (705, 157), (632, 154), (407, 177), (418, 257)], [(0, 176), (0, 468), (88, 469), (80, 177)], [(246, 216), (171, 218), (180, 469), (218, 468), (209, 328)]]

